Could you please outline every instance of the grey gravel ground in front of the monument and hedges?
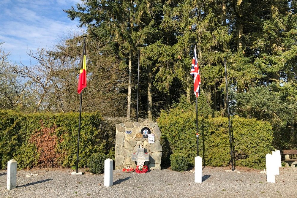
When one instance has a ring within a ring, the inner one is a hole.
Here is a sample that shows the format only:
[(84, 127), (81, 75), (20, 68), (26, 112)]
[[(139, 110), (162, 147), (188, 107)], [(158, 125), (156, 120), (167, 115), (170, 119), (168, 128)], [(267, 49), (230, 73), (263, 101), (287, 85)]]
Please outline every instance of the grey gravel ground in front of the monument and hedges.
[[(7, 172), (0, 170), (0, 197), (297, 197), (297, 168), (280, 168), (276, 183), (267, 183), (260, 170), (205, 167), (203, 182), (194, 173), (170, 169), (145, 174), (113, 171), (113, 186), (104, 186), (104, 174), (71, 175), (71, 169), (31, 169), (17, 172), (17, 188), (7, 191)], [(25, 177), (27, 174), (37, 176)]]

